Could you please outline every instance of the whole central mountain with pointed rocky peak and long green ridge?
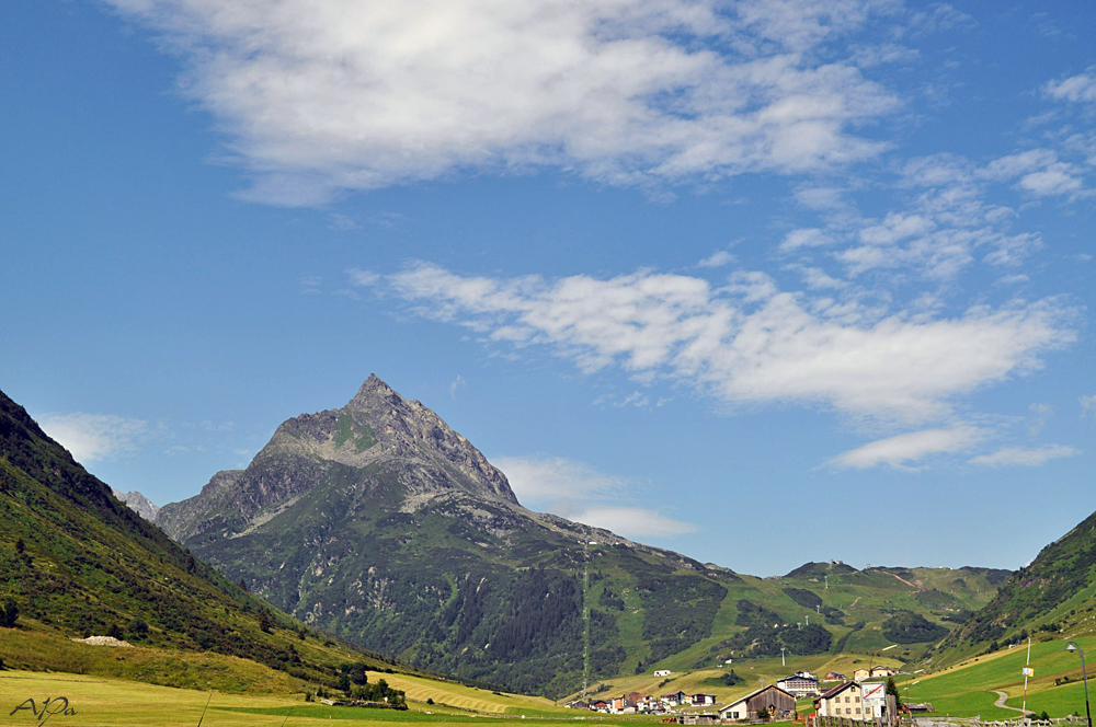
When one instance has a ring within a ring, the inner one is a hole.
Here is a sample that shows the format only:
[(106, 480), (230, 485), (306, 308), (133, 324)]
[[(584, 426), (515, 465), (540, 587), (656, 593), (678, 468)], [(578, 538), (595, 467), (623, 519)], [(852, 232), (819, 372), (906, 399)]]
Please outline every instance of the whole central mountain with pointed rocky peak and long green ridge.
[[(966, 570), (807, 564), (761, 579), (527, 510), (465, 437), (375, 374), (344, 406), (287, 419), (246, 470), (217, 473), (157, 522), (308, 623), (418, 668), (550, 695), (581, 683), (584, 613), (590, 677), (603, 679), (781, 646), (869, 653), (903, 610), (936, 623), (992, 595)], [(808, 615), (825, 625), (797, 627)]]

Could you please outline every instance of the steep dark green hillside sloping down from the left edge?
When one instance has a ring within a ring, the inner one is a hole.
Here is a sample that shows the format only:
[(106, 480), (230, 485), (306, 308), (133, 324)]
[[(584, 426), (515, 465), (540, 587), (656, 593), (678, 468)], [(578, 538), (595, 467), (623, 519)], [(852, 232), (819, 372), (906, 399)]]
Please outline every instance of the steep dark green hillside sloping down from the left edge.
[[(13, 628), (0, 628), (8, 665), (94, 671), (104, 648), (69, 639), (113, 635), (141, 647), (127, 655), (183, 665), (179, 655), (210, 651), (316, 684), (333, 683), (342, 662), (387, 666), (272, 609), (176, 545), (2, 392), (0, 521), (0, 604), (14, 616)], [(145, 676), (178, 683), (182, 671)]]

